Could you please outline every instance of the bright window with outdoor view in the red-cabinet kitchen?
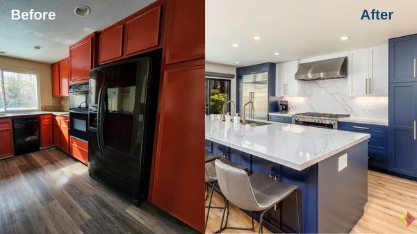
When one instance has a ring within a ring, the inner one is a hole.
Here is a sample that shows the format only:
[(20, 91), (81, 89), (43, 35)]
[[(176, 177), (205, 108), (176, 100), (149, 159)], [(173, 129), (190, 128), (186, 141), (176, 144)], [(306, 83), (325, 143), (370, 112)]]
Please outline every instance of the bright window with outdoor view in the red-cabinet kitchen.
[(38, 110), (38, 76), (0, 69), (0, 111)]

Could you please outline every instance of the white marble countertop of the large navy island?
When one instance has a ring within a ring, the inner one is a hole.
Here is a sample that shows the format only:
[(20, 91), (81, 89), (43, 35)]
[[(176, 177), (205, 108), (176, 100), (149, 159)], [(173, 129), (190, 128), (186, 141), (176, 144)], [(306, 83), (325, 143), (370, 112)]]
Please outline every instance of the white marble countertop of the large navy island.
[(250, 126), (206, 117), (206, 140), (301, 171), (367, 140), (369, 134), (275, 123)]

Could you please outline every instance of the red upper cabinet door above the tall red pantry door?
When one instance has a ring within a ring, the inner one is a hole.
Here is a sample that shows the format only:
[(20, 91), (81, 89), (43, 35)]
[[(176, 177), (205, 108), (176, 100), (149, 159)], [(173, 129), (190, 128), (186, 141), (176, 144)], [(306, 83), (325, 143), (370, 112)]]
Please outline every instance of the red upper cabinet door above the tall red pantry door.
[(204, 58), (204, 0), (169, 4), (166, 63)]

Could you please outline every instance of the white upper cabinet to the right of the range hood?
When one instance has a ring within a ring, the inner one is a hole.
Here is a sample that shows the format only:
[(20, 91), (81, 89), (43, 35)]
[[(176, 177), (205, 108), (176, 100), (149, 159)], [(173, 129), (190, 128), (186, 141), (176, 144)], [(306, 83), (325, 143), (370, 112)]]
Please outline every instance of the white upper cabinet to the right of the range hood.
[(388, 95), (388, 45), (349, 51), (347, 63), (349, 95)]

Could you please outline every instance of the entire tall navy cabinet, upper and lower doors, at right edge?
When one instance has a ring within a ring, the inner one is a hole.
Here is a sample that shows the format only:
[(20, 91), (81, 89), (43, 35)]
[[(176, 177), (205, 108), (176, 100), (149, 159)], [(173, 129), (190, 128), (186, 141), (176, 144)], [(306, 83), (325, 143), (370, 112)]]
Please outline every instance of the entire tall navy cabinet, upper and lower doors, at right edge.
[(417, 34), (389, 40), (389, 171), (417, 177)]

